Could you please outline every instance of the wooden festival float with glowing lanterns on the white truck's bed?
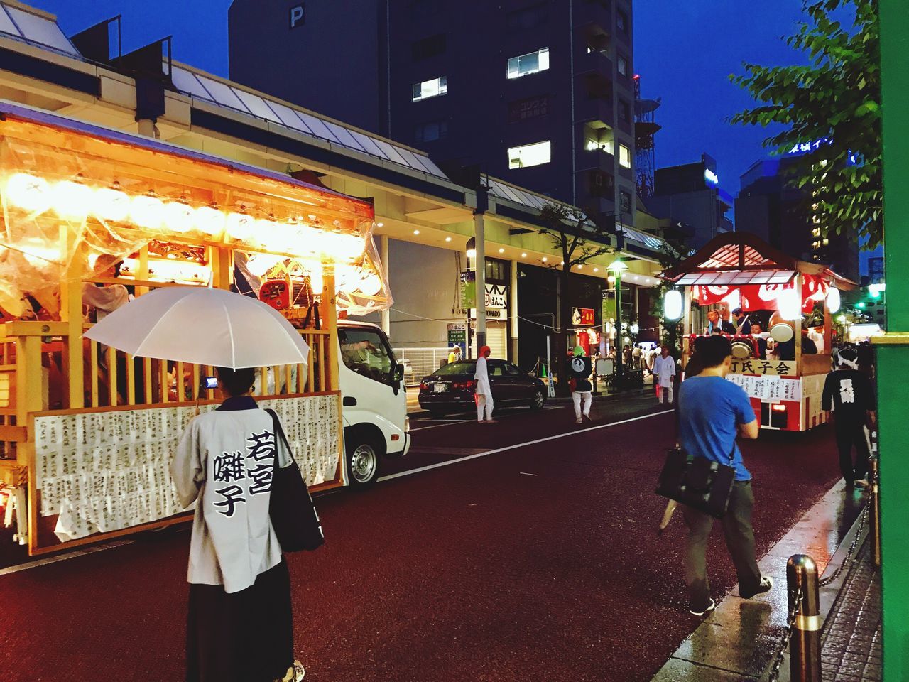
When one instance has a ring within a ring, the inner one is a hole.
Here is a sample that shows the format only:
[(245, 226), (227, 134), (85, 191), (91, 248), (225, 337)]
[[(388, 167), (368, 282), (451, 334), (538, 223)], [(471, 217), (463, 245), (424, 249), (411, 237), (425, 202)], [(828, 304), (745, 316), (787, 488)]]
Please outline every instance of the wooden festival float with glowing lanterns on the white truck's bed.
[[(291, 320), (309, 362), (257, 370), (307, 483), (345, 484), (337, 316), (391, 305), (371, 203), (0, 104), (0, 503), (31, 554), (188, 517), (168, 466), (209, 366), (83, 338), (130, 296), (215, 286)], [(215, 332), (216, 330), (213, 330)], [(2, 516), (0, 516), (2, 517)]]

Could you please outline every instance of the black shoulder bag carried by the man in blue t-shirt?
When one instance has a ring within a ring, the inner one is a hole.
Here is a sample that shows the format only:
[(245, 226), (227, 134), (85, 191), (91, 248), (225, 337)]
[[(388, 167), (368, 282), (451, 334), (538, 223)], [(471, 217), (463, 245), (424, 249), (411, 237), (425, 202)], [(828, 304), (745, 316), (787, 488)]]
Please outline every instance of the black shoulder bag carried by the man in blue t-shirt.
[(723, 518), (732, 494), (735, 469), (732, 467), (735, 443), (729, 453), (729, 466), (702, 456), (689, 455), (675, 446), (666, 455), (656, 494), (674, 499), (714, 518)]

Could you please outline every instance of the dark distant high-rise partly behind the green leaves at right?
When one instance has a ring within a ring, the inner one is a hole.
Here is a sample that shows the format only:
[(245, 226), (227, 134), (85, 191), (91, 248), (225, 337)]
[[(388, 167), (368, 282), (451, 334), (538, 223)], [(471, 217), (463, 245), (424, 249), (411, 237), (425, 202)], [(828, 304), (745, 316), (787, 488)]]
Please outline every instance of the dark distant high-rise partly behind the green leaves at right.
[(744, 173), (735, 199), (735, 228), (858, 282), (858, 242), (853, 236), (824, 234), (820, 218), (804, 206), (804, 190), (786, 176), (790, 163), (785, 156), (765, 159)]

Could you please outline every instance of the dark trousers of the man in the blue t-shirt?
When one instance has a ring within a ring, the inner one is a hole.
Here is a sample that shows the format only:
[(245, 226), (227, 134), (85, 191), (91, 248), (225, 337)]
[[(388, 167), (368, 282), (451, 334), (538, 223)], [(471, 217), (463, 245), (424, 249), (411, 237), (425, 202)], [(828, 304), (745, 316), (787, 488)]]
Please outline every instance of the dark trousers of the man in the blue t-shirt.
[[(735, 481), (729, 496), (729, 508), (720, 520), (726, 547), (733, 557), (738, 573), (739, 590), (744, 595), (754, 595), (761, 583), (761, 569), (754, 557), (754, 529), (751, 527), (751, 510), (754, 493), (751, 481)], [(710, 605), (710, 581), (707, 579), (707, 540), (714, 528), (714, 517), (682, 505), (688, 536), (684, 543), (684, 577), (688, 584), (688, 604), (693, 611), (703, 611)]]

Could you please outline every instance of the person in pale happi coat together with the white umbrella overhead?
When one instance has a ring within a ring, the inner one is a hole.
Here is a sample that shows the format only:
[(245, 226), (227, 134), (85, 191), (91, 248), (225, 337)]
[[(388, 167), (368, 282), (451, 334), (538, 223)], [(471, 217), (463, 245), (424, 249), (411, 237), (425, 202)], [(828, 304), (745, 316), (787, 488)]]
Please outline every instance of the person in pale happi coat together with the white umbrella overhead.
[(255, 367), (307, 364), (309, 346), (274, 308), (203, 286), (139, 296), (84, 336), (133, 356), (217, 367), (225, 400), (190, 420), (171, 463), (180, 501), (195, 502), (187, 682), (303, 679), (290, 577), (269, 509), (273, 481), (285, 479), (277, 467), (294, 460), (280, 420), (251, 394)]

